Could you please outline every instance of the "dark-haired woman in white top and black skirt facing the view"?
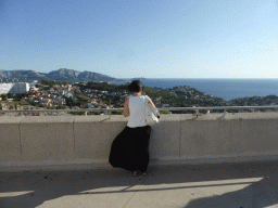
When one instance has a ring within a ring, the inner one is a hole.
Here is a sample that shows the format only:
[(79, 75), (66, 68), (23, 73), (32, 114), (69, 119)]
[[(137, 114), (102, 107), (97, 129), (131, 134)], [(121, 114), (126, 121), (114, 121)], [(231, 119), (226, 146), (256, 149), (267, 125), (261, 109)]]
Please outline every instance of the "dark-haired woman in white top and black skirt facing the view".
[[(129, 119), (127, 127), (112, 143), (109, 161), (113, 167), (132, 171), (134, 177), (137, 177), (137, 170), (147, 176), (151, 127), (146, 122), (144, 108), (147, 102), (153, 106), (154, 104), (149, 96), (142, 95), (141, 81), (132, 81), (128, 90), (132, 95), (125, 101), (124, 117), (129, 116)], [(159, 110), (156, 115), (160, 118)]]

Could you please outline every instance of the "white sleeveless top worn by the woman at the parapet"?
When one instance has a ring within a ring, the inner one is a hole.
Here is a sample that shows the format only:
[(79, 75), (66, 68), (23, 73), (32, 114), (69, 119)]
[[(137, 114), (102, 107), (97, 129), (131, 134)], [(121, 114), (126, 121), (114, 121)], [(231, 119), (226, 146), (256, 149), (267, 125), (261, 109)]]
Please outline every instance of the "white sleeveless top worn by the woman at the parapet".
[(130, 128), (144, 127), (146, 122), (146, 103), (147, 96), (129, 96), (129, 120), (127, 126)]

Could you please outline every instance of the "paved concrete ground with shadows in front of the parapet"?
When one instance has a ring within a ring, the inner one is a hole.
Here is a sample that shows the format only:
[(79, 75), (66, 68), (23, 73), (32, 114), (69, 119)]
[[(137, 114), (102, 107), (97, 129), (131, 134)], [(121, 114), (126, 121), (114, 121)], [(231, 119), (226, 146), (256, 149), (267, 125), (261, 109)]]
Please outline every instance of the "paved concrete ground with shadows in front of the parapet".
[(278, 161), (0, 173), (0, 207), (278, 207)]

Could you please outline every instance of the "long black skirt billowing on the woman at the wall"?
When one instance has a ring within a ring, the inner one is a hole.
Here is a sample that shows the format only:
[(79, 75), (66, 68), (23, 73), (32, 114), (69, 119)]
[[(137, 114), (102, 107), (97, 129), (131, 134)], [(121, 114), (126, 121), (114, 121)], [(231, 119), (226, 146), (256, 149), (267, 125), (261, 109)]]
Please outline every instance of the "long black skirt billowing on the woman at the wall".
[(109, 162), (114, 168), (147, 171), (151, 127), (126, 127), (113, 141)]

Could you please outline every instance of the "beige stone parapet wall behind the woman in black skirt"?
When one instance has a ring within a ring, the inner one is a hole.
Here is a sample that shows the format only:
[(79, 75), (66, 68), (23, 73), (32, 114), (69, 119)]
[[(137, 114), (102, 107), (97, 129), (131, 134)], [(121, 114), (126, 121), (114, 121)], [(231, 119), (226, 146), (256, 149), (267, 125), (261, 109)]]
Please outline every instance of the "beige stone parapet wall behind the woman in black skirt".
[[(127, 118), (27, 116), (0, 119), (0, 171), (109, 168)], [(152, 127), (150, 166), (278, 158), (278, 113), (162, 115)]]

